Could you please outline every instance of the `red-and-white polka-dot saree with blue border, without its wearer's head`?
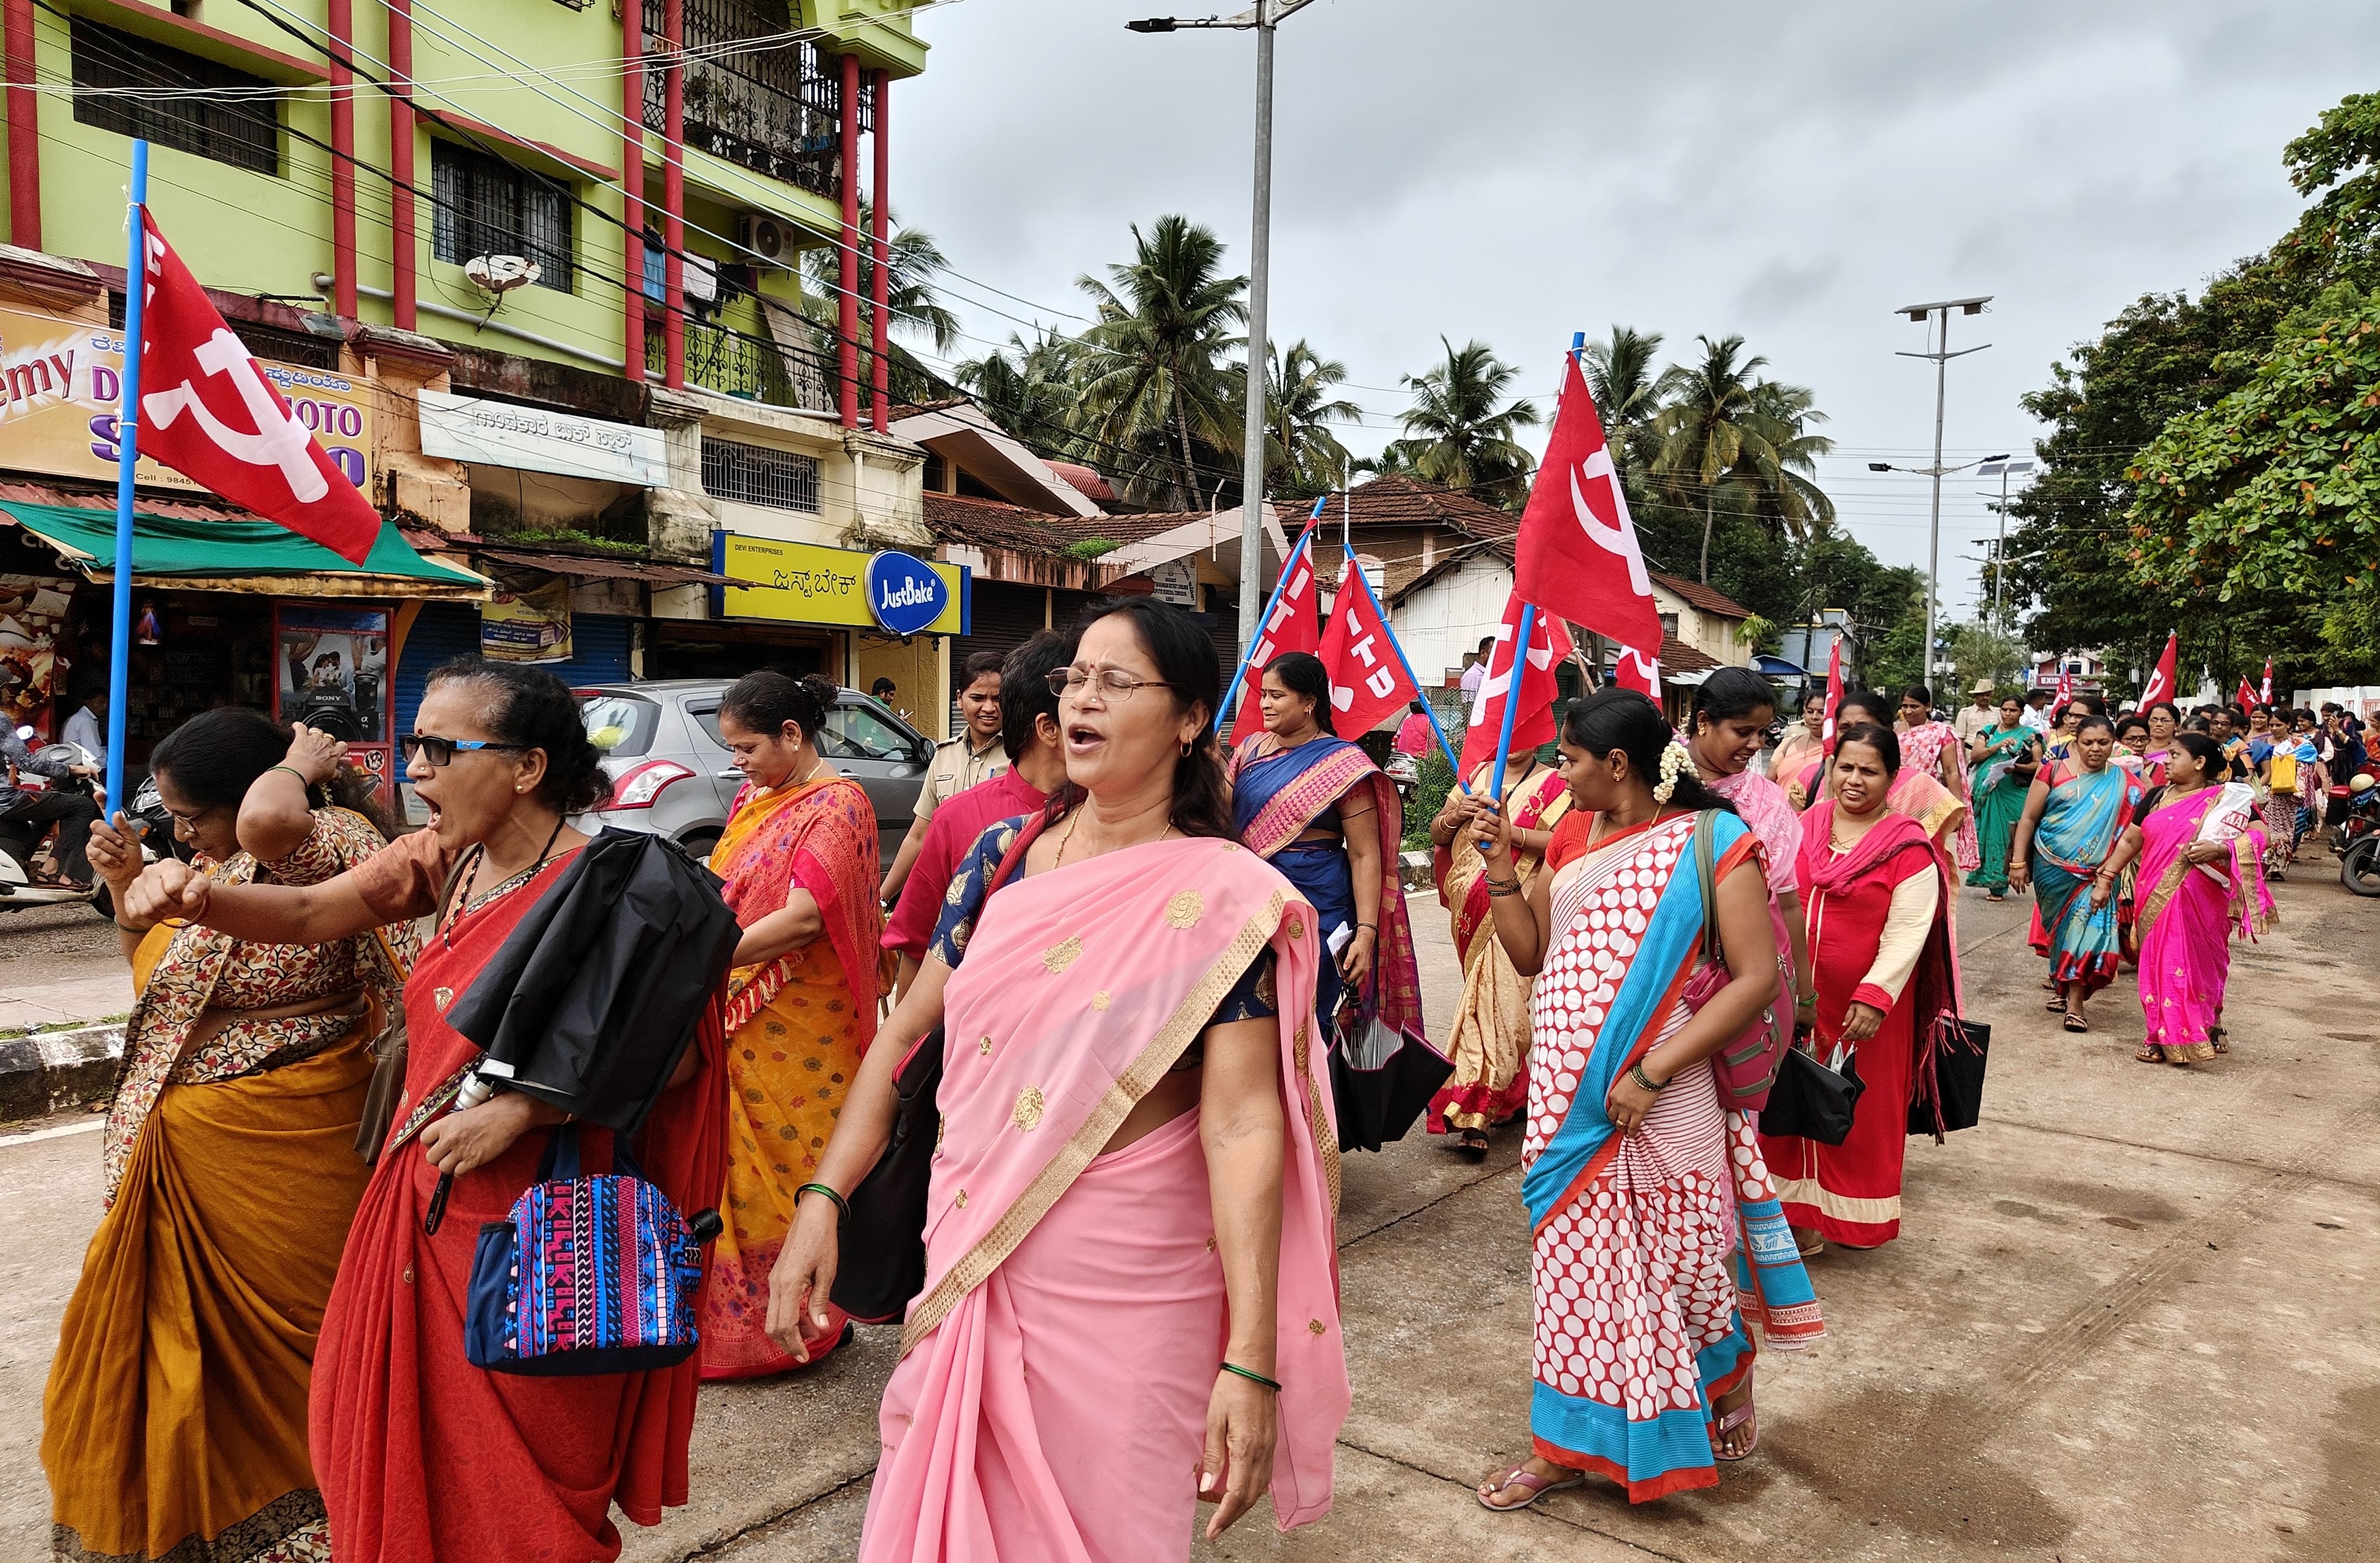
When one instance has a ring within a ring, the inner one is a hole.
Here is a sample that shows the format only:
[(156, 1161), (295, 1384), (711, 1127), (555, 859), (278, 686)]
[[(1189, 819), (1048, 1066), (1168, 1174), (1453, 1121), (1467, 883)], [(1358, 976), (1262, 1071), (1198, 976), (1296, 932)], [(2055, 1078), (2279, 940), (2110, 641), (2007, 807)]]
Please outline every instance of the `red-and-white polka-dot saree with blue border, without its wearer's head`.
[[(1692, 814), (1587, 847), (1592, 818), (1573, 814), (1547, 854), (1554, 940), (1533, 994), (1530, 1432), (1540, 1458), (1642, 1504), (1718, 1482), (1711, 1406), (1749, 1380), (1747, 1320), (1780, 1351), (1825, 1327), (1759, 1140), (1721, 1109), (1709, 1061), (1664, 1082), (1635, 1135), (1614, 1130), (1611, 1085), (1692, 1018), (1704, 914)], [(1714, 883), (1759, 864), (1733, 814), (1714, 847)]]

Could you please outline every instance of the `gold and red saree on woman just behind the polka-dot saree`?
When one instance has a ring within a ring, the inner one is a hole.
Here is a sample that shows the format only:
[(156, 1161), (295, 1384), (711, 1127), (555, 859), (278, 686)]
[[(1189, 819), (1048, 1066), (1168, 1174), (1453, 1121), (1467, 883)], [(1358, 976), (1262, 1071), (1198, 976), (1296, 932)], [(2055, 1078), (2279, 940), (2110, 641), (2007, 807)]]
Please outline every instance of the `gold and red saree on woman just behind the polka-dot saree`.
[[(1471, 773), (1473, 790), (1485, 790), (1495, 766)], [(1504, 787), (1504, 809), (1521, 830), (1552, 830), (1571, 811), (1571, 790), (1561, 773), (1518, 776)], [(1464, 963), (1464, 997), (1454, 1006), (1454, 1035), (1447, 1056), (1454, 1075), (1430, 1097), (1433, 1135), (1447, 1130), (1488, 1130), (1528, 1106), (1528, 978), (1514, 971), (1511, 956), (1495, 937), (1488, 916), (1488, 859), (1468, 840), (1438, 849), (1438, 899), (1454, 918), (1454, 954)], [(1514, 871), (1523, 892), (1545, 861), (1537, 852), (1516, 852)]]

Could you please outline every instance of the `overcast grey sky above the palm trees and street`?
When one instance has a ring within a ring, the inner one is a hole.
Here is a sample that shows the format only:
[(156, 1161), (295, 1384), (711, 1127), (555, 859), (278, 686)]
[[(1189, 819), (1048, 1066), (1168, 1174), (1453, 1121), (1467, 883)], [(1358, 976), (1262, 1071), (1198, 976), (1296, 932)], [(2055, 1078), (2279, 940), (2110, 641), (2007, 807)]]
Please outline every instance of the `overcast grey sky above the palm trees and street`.
[[(1254, 43), (1123, 31), (1159, 5), (919, 19), (895, 205), (969, 278), (959, 357), (1019, 319), (1081, 326), (1073, 278), (1161, 212), (1247, 266)], [(1742, 333), (1833, 416), (1849, 528), (1923, 564), (1925, 478), (1866, 471), (1930, 459), (1933, 366), (1894, 357), (1925, 333), (1892, 307), (1997, 297), (1952, 326), (1992, 347), (1952, 364), (1947, 459), (2030, 450), (2016, 397), (2052, 359), (2294, 221), (2282, 143), (2380, 88), (2375, 62), (2373, 5), (1316, 0), (1278, 36), (1271, 335), (1347, 364), (1368, 416), (1342, 433), (1376, 450), (1440, 335), (1518, 362), (1549, 412), (1571, 331), (1678, 357)], [(1975, 488), (1944, 483), (1954, 609)]]

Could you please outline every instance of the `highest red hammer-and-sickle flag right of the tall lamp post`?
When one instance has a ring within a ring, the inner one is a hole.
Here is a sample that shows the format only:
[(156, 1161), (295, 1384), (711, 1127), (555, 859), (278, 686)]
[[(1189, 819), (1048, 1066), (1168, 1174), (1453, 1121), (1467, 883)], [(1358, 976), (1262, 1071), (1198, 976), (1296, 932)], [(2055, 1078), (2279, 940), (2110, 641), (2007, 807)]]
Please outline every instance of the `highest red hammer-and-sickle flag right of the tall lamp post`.
[(1661, 609), (1576, 352), (1564, 362), (1554, 435), (1521, 514), (1514, 590), (1621, 645), (1661, 645)]

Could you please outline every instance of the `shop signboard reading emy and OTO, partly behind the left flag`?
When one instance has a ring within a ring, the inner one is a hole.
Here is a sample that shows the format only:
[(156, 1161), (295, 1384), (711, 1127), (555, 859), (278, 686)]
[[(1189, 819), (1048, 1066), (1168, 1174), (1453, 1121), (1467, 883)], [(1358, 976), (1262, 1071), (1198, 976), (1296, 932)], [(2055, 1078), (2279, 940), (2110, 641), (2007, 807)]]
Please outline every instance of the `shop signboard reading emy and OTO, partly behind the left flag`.
[[(371, 385), (264, 359), (257, 369), (347, 481), (364, 488), (371, 476)], [(0, 466), (112, 483), (121, 402), (121, 331), (0, 309)], [(133, 481), (198, 490), (198, 483), (148, 457)]]

